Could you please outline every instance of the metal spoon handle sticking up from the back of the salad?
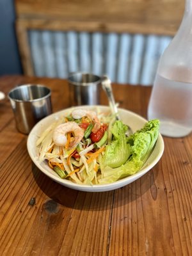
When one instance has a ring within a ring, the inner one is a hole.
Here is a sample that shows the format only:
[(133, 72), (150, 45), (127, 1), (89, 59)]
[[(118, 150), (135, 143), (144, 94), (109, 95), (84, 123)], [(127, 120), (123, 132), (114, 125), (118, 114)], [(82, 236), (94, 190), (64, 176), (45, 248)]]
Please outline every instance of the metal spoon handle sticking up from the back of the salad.
[(102, 88), (106, 92), (109, 100), (109, 106), (111, 108), (111, 111), (116, 115), (116, 119), (120, 119), (118, 116), (118, 109), (115, 104), (115, 99), (113, 96), (113, 90), (111, 87), (111, 80), (107, 76), (102, 77)]

